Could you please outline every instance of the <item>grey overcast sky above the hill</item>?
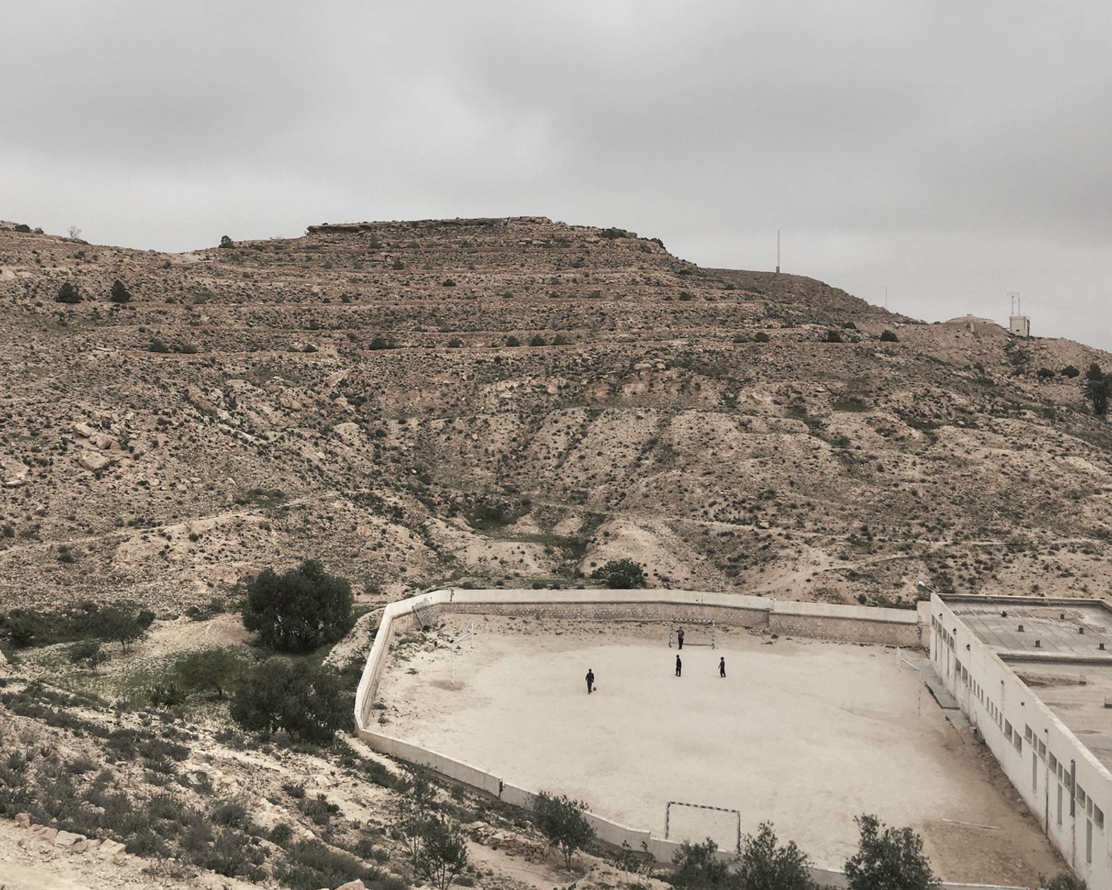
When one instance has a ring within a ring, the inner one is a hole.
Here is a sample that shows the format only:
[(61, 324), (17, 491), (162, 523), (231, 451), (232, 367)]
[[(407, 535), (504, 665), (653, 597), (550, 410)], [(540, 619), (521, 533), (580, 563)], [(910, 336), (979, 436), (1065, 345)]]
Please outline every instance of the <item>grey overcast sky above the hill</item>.
[(4, 0), (0, 219), (540, 215), (1112, 349), (1112, 4)]

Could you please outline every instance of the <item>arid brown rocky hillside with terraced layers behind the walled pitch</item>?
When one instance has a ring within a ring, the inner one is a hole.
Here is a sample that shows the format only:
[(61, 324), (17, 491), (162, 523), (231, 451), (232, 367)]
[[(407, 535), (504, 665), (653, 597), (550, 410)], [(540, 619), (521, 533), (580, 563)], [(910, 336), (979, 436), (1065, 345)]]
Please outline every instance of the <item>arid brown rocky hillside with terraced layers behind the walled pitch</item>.
[(175, 255), (0, 228), (9, 606), (169, 617), (306, 556), (368, 599), (616, 556), (800, 600), (1108, 590), (1081, 382), (1112, 356), (1080, 344), (533, 217)]

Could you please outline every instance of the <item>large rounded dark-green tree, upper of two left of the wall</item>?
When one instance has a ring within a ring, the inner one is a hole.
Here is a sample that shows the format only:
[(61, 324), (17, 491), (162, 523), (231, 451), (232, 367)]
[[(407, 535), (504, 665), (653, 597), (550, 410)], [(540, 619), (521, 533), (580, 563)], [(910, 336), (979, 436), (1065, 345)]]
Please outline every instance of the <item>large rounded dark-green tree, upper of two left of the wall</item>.
[(270, 649), (308, 652), (351, 626), (351, 585), (316, 560), (277, 574), (264, 568), (248, 585), (244, 626)]

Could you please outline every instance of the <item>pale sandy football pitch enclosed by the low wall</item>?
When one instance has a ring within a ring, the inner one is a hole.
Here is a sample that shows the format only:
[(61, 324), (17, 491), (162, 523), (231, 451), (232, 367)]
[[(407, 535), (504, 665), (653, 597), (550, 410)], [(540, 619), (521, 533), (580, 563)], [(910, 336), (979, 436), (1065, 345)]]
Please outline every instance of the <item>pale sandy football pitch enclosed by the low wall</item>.
[[(450, 621), (441, 640), (463, 624)], [(719, 630), (716, 650), (684, 649), (677, 679), (666, 627), (477, 625), (455, 688), (446, 647), (396, 645), (379, 690), (387, 732), (661, 835), (668, 800), (731, 807), (743, 831), (771, 821), (817, 864), (841, 867), (856, 847), (853, 817), (874, 812), (920, 831), (950, 880), (1058, 870), (991, 759), (915, 671), (897, 672), (892, 650)]]

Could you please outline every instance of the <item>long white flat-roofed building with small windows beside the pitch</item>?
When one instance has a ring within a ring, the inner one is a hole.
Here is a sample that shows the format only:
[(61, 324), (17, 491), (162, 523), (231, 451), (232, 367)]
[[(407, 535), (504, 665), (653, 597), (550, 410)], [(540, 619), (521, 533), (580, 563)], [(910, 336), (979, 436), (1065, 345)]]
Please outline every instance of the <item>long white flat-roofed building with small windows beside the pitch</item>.
[(931, 661), (1065, 861), (1112, 888), (1112, 607), (934, 594)]

